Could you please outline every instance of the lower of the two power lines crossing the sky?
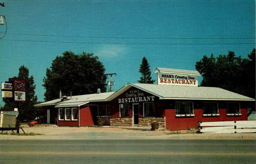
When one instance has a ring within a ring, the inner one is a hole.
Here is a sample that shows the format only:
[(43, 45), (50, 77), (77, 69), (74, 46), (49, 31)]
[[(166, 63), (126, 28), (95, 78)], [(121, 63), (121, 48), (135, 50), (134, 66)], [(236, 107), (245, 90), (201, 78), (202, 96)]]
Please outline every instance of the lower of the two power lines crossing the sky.
[[(8, 39), (3, 39), (8, 40)], [(77, 43), (77, 44), (120, 44), (120, 45), (255, 45), (255, 43), (124, 43), (124, 42), (61, 42), (44, 40), (8, 40), (21, 42), (53, 42), (53, 43)]]

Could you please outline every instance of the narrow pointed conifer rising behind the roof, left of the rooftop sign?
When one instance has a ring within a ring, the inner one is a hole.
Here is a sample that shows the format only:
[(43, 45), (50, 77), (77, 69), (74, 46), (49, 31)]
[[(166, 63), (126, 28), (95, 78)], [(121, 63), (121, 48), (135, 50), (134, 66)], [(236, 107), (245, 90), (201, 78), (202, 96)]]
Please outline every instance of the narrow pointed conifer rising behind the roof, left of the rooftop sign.
[(140, 77), (140, 80), (138, 80), (139, 83), (148, 83), (153, 84), (155, 80), (151, 80), (151, 71), (149, 69), (148, 60), (146, 57), (143, 57), (142, 63), (140, 65), (139, 69), (140, 74), (142, 75)]

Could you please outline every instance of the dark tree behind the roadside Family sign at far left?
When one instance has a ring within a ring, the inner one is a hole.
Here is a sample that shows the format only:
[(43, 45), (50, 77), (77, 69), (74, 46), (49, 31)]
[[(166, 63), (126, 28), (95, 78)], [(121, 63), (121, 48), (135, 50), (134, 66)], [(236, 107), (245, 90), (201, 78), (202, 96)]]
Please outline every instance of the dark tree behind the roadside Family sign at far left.
[(20, 121), (30, 121), (35, 119), (38, 115), (38, 109), (34, 107), (37, 102), (37, 96), (35, 95), (34, 77), (29, 77), (29, 69), (22, 65), (19, 68), (19, 75), (13, 78), (26, 80), (26, 102), (14, 102), (12, 99), (3, 99), (5, 102), (4, 108), (15, 108), (19, 110)]

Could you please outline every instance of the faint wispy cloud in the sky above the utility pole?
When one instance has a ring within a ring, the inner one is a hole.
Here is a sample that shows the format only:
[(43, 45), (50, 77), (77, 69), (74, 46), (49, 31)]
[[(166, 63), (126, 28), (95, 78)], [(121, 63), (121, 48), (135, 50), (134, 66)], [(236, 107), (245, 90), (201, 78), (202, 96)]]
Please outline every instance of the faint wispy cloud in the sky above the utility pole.
[(102, 45), (97, 53), (95, 53), (99, 57), (120, 57), (127, 51), (123, 45)]

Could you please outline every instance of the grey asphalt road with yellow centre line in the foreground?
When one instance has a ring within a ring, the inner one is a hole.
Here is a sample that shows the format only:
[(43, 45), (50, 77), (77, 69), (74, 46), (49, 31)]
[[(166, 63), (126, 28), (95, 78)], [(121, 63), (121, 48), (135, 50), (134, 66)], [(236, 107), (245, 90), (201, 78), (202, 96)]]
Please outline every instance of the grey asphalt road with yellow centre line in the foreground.
[(255, 164), (255, 140), (0, 140), (0, 164)]

